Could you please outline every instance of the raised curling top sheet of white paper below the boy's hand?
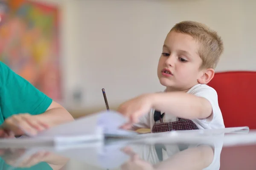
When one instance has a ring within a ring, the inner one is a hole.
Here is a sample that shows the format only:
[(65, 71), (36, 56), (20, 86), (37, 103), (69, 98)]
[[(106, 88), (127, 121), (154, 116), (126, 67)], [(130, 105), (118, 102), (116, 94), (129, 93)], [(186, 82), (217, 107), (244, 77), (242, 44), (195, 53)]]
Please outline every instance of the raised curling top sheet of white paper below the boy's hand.
[[(74, 122), (52, 127), (49, 130), (39, 133), (36, 137), (90, 135), (95, 133), (113, 133), (116, 135), (118, 133), (121, 135), (134, 134), (133, 132), (119, 130), (119, 126), (125, 122), (127, 122), (127, 119), (115, 111), (102, 111), (90, 116), (81, 117)], [(99, 129), (103, 131), (100, 132)]]

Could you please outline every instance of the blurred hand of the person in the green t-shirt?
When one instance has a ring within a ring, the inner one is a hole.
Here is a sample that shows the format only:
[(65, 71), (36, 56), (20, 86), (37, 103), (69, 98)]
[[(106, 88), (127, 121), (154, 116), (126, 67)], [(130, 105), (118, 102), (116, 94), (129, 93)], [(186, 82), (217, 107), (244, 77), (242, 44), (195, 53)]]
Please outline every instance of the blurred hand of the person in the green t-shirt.
[[(48, 127), (47, 123), (38, 120), (36, 115), (20, 113), (7, 118), (0, 126), (0, 133), (3, 131), (7, 134), (12, 133), (12, 135), (34, 136), (39, 131), (45, 130)], [(3, 137), (5, 136), (6, 134)], [(0, 137), (2, 137), (1, 134)]]

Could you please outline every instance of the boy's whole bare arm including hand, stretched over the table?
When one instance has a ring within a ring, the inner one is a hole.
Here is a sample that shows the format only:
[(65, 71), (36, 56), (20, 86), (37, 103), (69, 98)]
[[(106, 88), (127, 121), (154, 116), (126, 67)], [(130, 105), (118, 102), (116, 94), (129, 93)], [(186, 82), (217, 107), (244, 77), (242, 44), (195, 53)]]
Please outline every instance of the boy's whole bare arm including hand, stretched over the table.
[(124, 102), (117, 111), (127, 116), (129, 123), (133, 124), (151, 108), (183, 119), (205, 119), (212, 114), (212, 105), (207, 99), (184, 92), (143, 94)]

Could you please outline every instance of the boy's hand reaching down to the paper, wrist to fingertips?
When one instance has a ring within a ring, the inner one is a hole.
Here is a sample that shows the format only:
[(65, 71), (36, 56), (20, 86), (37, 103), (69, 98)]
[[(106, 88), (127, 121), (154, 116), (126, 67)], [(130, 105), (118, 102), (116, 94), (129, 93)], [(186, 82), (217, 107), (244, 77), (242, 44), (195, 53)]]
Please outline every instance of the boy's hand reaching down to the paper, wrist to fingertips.
[(143, 94), (134, 99), (122, 103), (117, 111), (129, 118), (129, 122), (122, 126), (123, 129), (128, 129), (133, 123), (138, 122), (140, 116), (148, 113), (152, 108), (153, 96), (151, 94)]

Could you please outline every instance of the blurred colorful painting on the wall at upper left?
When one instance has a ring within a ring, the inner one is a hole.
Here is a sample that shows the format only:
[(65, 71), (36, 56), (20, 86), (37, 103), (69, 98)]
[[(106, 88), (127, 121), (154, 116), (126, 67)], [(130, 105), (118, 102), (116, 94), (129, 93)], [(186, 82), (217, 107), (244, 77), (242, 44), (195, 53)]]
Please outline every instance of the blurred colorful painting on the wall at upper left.
[(58, 8), (10, 0), (0, 26), (0, 60), (54, 100), (61, 100)]

